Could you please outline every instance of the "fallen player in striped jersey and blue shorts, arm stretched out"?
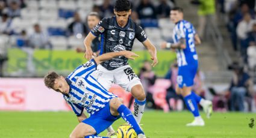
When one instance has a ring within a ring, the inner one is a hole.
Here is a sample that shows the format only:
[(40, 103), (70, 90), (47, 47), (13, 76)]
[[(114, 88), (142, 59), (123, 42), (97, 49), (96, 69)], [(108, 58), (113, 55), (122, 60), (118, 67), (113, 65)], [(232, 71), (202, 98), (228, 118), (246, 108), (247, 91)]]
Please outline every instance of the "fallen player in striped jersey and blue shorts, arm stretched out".
[[(133, 113), (122, 104), (116, 95), (108, 92), (91, 76), (98, 64), (117, 56), (134, 59), (134, 56), (138, 55), (126, 50), (105, 53), (80, 65), (66, 78), (54, 71), (45, 76), (45, 85), (63, 94), (80, 122), (70, 137), (105, 138), (97, 135), (120, 117), (134, 128), (138, 137), (145, 137)], [(89, 113), (89, 118), (83, 113), (84, 109)]]

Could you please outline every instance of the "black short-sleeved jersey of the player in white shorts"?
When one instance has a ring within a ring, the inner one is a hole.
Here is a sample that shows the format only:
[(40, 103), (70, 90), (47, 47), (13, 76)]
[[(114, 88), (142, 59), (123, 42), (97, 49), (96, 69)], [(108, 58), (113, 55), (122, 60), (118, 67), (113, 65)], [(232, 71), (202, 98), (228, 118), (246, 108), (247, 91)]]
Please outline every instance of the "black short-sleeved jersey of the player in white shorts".
[[(107, 17), (102, 19), (98, 25), (92, 30), (92, 34), (95, 36), (101, 35), (101, 52), (118, 52), (122, 50), (133, 49), (134, 39), (137, 38), (140, 42), (147, 39), (145, 32), (142, 27), (133, 22), (130, 18), (128, 19), (125, 27), (121, 28), (116, 22), (116, 16)], [(107, 70), (114, 70), (118, 67), (128, 64), (128, 59), (124, 56), (119, 56), (109, 61), (102, 62), (102, 66)]]

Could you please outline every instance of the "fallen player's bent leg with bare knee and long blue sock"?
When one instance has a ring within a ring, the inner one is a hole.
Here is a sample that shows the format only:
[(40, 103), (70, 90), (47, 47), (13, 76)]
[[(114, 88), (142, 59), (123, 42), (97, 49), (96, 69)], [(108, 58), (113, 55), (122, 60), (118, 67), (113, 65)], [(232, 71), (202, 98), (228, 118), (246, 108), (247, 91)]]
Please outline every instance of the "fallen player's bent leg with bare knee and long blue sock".
[(133, 113), (122, 104), (122, 102), (119, 100), (119, 98), (113, 98), (110, 100), (110, 113), (113, 116), (120, 115), (128, 124), (133, 127), (133, 129), (136, 131), (136, 133), (143, 134), (142, 129), (140, 128), (139, 124), (136, 122), (136, 119), (133, 116)]

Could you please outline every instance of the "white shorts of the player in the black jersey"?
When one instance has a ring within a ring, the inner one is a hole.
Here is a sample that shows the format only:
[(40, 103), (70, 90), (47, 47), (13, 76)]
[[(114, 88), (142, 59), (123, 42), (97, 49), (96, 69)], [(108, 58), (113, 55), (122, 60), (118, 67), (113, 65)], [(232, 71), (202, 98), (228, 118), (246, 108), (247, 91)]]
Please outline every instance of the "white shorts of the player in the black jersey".
[(142, 85), (139, 77), (134, 73), (130, 65), (107, 70), (98, 65), (97, 71), (92, 74), (105, 89), (110, 89), (112, 83), (121, 86), (125, 91), (130, 92), (135, 85)]

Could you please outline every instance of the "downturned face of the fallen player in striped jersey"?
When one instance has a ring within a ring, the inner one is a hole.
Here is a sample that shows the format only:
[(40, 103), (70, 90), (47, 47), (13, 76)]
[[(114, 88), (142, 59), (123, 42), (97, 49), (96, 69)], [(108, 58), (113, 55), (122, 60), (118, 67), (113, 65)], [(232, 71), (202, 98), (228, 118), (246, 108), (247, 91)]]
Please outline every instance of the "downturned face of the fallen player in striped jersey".
[(58, 79), (55, 79), (52, 89), (54, 89), (54, 91), (61, 92), (62, 94), (68, 94), (69, 84), (67, 84), (63, 76), (60, 76)]

